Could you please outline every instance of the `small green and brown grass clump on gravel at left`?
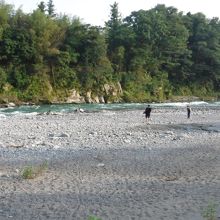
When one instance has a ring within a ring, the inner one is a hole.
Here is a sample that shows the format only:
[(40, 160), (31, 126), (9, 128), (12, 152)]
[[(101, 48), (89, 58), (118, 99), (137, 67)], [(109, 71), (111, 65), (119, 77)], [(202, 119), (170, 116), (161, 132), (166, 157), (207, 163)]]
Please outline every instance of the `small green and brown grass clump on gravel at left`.
[(23, 179), (34, 179), (42, 175), (47, 169), (48, 169), (48, 162), (44, 161), (42, 164), (38, 166), (25, 167), (21, 172), (21, 176)]

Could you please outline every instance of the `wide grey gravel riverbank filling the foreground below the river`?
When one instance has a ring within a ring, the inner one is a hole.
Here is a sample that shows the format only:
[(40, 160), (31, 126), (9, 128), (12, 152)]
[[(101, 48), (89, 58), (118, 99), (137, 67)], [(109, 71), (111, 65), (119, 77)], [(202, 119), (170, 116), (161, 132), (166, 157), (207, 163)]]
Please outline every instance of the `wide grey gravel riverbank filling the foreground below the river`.
[(219, 110), (1, 116), (0, 134), (0, 219), (220, 217)]

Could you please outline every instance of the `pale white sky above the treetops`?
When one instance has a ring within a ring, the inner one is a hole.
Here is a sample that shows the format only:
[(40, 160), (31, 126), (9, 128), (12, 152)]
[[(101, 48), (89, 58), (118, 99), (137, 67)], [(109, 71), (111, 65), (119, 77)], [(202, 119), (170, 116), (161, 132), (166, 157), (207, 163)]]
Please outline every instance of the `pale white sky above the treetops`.
[[(15, 9), (21, 7), (25, 13), (36, 9), (41, 1), (48, 2), (48, 0), (5, 0), (6, 3), (14, 5)], [(219, 0), (53, 0), (57, 14), (77, 16), (84, 23), (100, 26), (104, 26), (105, 21), (109, 20), (110, 5), (114, 2), (118, 3), (122, 18), (129, 16), (132, 11), (149, 10), (157, 4), (173, 6), (184, 14), (202, 12), (207, 18), (220, 18)]]

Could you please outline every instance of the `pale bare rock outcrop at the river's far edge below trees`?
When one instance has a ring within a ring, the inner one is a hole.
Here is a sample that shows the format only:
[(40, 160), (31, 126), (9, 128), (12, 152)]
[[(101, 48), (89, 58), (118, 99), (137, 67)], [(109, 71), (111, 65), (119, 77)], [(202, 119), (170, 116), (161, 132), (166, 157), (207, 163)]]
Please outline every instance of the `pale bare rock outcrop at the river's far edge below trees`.
[(67, 97), (67, 103), (112, 103), (120, 102), (122, 96), (122, 88), (119, 82), (105, 84), (100, 94), (91, 90), (86, 91), (84, 94), (81, 91), (71, 90), (70, 95)]

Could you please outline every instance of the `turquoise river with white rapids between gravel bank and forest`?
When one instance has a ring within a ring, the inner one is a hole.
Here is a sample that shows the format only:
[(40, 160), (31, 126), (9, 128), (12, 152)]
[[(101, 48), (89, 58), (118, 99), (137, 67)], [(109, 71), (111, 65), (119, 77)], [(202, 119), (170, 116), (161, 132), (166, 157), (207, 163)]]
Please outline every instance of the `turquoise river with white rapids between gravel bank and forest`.
[(13, 108), (0, 108), (0, 115), (16, 114), (39, 114), (49, 110), (56, 113), (70, 113), (76, 109), (83, 109), (86, 112), (104, 110), (135, 110), (145, 109), (150, 104), (152, 108), (184, 108), (190, 105), (192, 108), (216, 108), (220, 109), (220, 102), (173, 102), (173, 103), (114, 103), (114, 104), (53, 104), (53, 105), (34, 105), (19, 106)]

